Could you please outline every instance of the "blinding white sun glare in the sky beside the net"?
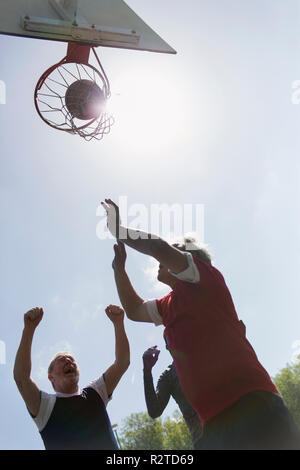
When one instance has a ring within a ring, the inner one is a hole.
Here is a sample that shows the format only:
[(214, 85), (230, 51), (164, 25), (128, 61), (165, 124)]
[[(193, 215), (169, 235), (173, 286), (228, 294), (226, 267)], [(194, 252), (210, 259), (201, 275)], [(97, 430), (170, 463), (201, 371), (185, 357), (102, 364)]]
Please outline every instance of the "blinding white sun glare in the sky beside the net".
[(137, 150), (170, 147), (185, 130), (183, 91), (167, 77), (132, 76), (134, 81), (119, 77), (109, 100), (108, 109), (116, 121), (115, 137)]

